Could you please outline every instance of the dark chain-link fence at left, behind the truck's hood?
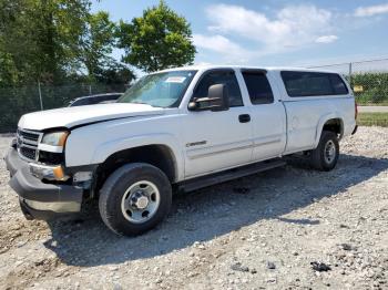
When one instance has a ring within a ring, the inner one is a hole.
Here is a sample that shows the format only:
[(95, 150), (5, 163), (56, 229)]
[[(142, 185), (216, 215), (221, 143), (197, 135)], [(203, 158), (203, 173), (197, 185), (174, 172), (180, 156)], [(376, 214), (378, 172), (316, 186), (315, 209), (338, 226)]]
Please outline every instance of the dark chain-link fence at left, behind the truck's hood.
[(0, 87), (0, 133), (14, 132), (20, 116), (25, 113), (68, 106), (70, 101), (80, 96), (125, 90), (125, 84), (52, 86), (37, 83), (21, 87)]

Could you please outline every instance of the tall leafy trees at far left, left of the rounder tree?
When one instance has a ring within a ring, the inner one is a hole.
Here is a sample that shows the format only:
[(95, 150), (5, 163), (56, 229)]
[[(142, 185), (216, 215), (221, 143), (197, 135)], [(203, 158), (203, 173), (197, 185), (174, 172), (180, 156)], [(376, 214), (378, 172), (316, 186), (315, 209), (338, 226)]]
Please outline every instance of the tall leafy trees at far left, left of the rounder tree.
[(108, 13), (91, 13), (91, 0), (0, 0), (0, 131), (16, 130), (20, 115), (40, 108), (37, 81), (45, 108), (85, 93), (57, 85), (123, 90), (134, 75), (111, 56), (115, 31)]

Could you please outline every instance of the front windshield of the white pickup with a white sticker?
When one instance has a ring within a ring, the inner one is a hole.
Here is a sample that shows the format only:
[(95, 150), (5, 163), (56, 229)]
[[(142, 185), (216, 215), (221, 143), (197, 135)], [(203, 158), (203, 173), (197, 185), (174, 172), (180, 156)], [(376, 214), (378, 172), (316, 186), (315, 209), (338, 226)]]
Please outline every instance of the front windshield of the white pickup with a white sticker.
[(176, 107), (195, 73), (196, 71), (171, 71), (143, 76), (119, 99), (118, 103)]

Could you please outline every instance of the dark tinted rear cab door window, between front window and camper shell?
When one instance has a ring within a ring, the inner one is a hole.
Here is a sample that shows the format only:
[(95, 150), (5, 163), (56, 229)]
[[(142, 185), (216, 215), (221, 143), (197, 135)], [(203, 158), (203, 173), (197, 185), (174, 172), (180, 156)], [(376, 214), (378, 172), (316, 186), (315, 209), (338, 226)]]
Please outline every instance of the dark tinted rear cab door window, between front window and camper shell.
[(248, 89), (252, 104), (274, 103), (274, 95), (270, 90), (267, 76), (263, 72), (243, 72), (246, 87)]

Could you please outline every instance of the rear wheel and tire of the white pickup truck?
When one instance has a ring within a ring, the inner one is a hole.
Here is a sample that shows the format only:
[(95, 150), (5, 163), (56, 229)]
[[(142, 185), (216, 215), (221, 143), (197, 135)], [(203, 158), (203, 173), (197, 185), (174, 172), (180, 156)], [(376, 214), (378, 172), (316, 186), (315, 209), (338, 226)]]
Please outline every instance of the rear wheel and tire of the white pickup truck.
[(318, 147), (312, 151), (312, 166), (321, 172), (329, 172), (336, 167), (339, 156), (337, 135), (330, 131), (323, 131)]

